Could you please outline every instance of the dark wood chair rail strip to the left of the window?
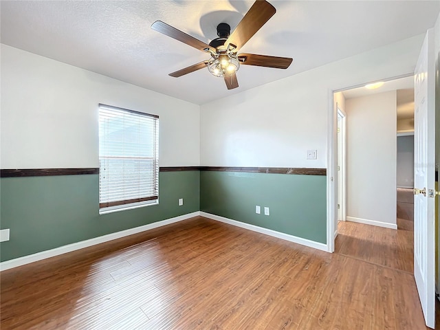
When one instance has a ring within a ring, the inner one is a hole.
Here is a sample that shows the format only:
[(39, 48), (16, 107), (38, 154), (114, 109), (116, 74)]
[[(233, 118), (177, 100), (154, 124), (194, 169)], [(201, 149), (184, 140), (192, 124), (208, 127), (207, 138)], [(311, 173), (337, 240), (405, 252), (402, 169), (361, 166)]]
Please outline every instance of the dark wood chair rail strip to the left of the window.
[(5, 168), (0, 170), (0, 177), (47, 177), (85, 174), (99, 174), (99, 168)]

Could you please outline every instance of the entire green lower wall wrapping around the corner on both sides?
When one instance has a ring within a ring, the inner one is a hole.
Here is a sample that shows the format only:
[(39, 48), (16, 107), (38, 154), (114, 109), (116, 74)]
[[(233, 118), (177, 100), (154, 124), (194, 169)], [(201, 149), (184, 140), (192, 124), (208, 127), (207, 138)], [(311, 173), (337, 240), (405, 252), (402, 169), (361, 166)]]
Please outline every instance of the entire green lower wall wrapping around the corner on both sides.
[(161, 172), (159, 205), (100, 215), (98, 175), (3, 177), (0, 228), (10, 228), (10, 241), (0, 243), (0, 261), (198, 210), (326, 243), (326, 184), (319, 175)]

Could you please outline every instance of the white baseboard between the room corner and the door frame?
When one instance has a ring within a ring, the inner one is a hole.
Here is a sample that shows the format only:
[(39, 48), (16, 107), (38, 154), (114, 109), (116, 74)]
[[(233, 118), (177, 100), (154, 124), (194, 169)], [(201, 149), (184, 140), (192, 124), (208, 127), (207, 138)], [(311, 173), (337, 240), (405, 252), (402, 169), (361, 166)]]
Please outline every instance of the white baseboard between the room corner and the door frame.
[(241, 221), (236, 221), (232, 219), (228, 219), (225, 217), (220, 217), (219, 215), (210, 214), (206, 212), (200, 212), (201, 217), (206, 217), (212, 220), (220, 221), (223, 223), (228, 223), (229, 225), (236, 225), (237, 227), (241, 227), (247, 230), (252, 230), (254, 232), (259, 232), (261, 234), (266, 234), (269, 236), (276, 237), (277, 239), (284, 239), (285, 241), (294, 242), (300, 245), (308, 246), (309, 248), (314, 248), (317, 250), (322, 250), (328, 252), (328, 248), (326, 244), (318, 243), (315, 241), (310, 241), (309, 239), (303, 239), (301, 237), (285, 234), (283, 232), (277, 232), (272, 229), (267, 229), (263, 227), (259, 227), (258, 225), (250, 225), (249, 223), (244, 223)]

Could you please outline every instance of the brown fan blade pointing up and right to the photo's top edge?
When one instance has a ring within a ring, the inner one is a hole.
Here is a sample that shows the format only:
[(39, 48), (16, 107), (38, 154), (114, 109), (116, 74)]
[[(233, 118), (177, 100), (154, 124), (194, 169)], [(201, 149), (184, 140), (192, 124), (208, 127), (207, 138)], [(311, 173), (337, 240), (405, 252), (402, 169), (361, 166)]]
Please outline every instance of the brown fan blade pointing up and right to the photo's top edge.
[(245, 14), (245, 17), (240, 21), (239, 25), (237, 25), (234, 32), (229, 36), (225, 45), (227, 46), (232, 43), (232, 45), (236, 46), (236, 50), (234, 50), (234, 52), (236, 52), (274, 16), (275, 12), (276, 9), (274, 6), (267, 1), (256, 0), (250, 10)]

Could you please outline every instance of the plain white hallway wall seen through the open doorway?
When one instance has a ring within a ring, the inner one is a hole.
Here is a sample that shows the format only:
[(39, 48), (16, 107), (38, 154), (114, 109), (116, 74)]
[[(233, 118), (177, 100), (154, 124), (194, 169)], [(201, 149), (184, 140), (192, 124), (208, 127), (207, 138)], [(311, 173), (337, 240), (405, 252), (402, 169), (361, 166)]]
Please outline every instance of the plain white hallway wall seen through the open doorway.
[(351, 98), (347, 112), (347, 220), (396, 225), (396, 91)]

